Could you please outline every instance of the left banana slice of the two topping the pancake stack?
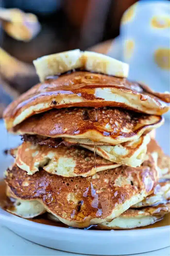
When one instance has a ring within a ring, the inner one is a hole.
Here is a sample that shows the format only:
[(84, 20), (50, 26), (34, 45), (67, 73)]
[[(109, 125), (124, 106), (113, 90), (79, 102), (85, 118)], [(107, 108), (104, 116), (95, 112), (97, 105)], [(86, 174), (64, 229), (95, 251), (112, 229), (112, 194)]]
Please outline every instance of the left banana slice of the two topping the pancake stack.
[(54, 76), (83, 66), (80, 49), (46, 55), (33, 60), (37, 75), (43, 82), (47, 76)]

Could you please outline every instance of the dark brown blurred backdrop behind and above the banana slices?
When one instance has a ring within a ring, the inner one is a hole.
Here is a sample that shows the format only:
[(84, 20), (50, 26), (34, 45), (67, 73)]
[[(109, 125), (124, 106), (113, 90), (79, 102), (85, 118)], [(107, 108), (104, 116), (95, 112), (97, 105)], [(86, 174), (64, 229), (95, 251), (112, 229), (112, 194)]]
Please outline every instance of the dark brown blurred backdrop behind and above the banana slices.
[(42, 29), (30, 42), (1, 35), (1, 47), (19, 60), (80, 48), (87, 49), (119, 34), (124, 11), (135, 0), (0, 0), (5, 8), (37, 15)]

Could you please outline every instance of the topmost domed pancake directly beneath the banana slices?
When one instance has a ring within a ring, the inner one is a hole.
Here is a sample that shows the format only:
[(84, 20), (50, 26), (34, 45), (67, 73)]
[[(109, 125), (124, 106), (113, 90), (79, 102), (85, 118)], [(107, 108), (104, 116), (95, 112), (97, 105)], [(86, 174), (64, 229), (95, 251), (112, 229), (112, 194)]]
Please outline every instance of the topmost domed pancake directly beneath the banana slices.
[[(161, 95), (161, 99), (166, 100), (166, 97)], [(152, 115), (162, 115), (169, 110), (164, 102), (147, 93), (138, 83), (125, 78), (76, 71), (35, 85), (12, 102), (3, 117), (9, 130), (36, 113), (73, 106), (121, 107)]]

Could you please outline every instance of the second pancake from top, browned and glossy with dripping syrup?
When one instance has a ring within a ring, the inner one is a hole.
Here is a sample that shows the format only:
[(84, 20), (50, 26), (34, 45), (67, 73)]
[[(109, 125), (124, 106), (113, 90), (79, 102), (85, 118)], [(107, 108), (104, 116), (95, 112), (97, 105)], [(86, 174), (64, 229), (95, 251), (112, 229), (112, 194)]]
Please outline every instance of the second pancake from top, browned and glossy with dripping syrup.
[[(116, 145), (137, 140), (143, 133), (160, 127), (161, 116), (140, 114), (116, 108), (69, 108), (34, 115), (13, 131), (47, 137), (86, 138)], [(97, 116), (97, 121), (96, 121)]]

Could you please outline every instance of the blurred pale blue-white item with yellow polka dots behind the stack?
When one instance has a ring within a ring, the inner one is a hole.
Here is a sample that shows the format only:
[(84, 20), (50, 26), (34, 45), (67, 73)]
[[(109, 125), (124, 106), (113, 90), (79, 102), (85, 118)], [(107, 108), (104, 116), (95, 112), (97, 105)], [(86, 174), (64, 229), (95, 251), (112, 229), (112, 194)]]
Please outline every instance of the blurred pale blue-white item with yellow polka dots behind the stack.
[(138, 1), (123, 14), (108, 55), (129, 63), (129, 79), (169, 91), (169, 31), (169, 1)]

